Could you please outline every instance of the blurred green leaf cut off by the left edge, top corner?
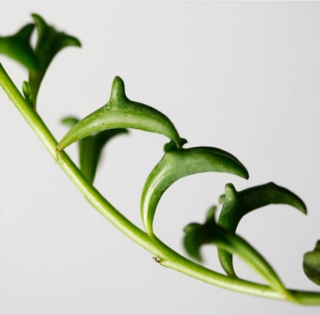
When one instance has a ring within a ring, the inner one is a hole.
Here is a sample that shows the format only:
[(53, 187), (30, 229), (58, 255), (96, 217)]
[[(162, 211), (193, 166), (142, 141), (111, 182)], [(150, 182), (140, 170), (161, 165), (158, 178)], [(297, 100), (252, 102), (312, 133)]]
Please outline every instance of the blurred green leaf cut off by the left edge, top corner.
[(27, 24), (14, 35), (0, 37), (0, 54), (16, 60), (28, 69), (35, 70), (37, 62), (30, 45), (33, 29), (34, 24)]

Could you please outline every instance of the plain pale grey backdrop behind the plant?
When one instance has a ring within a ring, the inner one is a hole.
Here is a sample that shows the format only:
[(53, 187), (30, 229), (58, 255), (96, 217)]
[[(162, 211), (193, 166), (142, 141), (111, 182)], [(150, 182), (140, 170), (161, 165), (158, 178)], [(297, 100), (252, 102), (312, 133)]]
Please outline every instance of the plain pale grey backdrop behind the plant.
[[(246, 216), (238, 233), (288, 287), (319, 290), (302, 257), (320, 238), (319, 2), (0, 2), (0, 34), (41, 14), (81, 40), (54, 59), (38, 111), (57, 139), (65, 115), (107, 102), (114, 76), (127, 95), (165, 113), (188, 146), (229, 151), (249, 181), (219, 173), (184, 178), (163, 195), (159, 237), (178, 252), (183, 227), (203, 221), (224, 185), (274, 181), (307, 204)], [(35, 41), (35, 36), (32, 38)], [(20, 87), (26, 70), (1, 56)], [(132, 130), (111, 141), (95, 185), (142, 227), (140, 193), (167, 140)], [(0, 314), (319, 314), (227, 291), (160, 267), (101, 217), (0, 91)], [(77, 160), (77, 146), (67, 152)], [(216, 249), (205, 265), (222, 271)], [(261, 282), (235, 259), (238, 274)]]

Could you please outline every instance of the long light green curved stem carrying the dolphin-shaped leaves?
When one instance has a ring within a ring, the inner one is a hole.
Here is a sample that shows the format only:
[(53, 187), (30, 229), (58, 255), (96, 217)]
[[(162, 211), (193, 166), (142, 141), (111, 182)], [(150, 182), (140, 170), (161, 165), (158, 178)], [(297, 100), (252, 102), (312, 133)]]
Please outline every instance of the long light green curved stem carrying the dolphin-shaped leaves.
[[(188, 276), (214, 284), (225, 289), (242, 293), (257, 295), (261, 297), (287, 300), (288, 297), (283, 293), (277, 292), (269, 286), (256, 284), (238, 278), (232, 278), (207, 269), (191, 260), (174, 252), (159, 239), (151, 241), (148, 235), (135, 226), (117, 209), (115, 209), (83, 176), (78, 167), (68, 157), (65, 152), (57, 153), (58, 142), (51, 134), (50, 130), (41, 120), (39, 115), (32, 109), (26, 99), (21, 95), (17, 87), (12, 82), (0, 63), (0, 85), (4, 92), (26, 119), (34, 132), (40, 138), (51, 156), (57, 161), (65, 174), (70, 178), (74, 185), (82, 192), (89, 203), (115, 227), (126, 234), (131, 240), (151, 252), (159, 259), (160, 265), (174, 269)], [(295, 297), (295, 302), (306, 305), (320, 305), (320, 293), (290, 290)]]

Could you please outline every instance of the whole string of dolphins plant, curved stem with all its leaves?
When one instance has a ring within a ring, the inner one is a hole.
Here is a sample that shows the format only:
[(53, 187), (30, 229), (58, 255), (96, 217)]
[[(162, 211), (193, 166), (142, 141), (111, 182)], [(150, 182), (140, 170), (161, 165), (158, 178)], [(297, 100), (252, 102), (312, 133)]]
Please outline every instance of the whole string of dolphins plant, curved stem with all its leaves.
[[(184, 247), (194, 261), (161, 242), (153, 229), (153, 221), (161, 196), (174, 182), (201, 172), (224, 172), (244, 179), (249, 178), (249, 173), (237, 158), (221, 149), (185, 148), (187, 141), (180, 137), (168, 117), (153, 107), (130, 100), (120, 77), (113, 80), (110, 98), (101, 108), (82, 120), (76, 117), (63, 119), (64, 125), (70, 129), (58, 143), (36, 111), (37, 95), (55, 55), (64, 47), (80, 47), (81, 44), (77, 38), (48, 25), (39, 15), (32, 14), (32, 18), (33, 23), (27, 24), (14, 35), (0, 37), (0, 54), (16, 60), (29, 71), (28, 81), (22, 84), (23, 94), (1, 63), (0, 85), (51, 156), (101, 215), (151, 252), (162, 266), (229, 290), (305, 305), (320, 305), (320, 292), (288, 289), (267, 260), (235, 233), (243, 216), (269, 204), (287, 204), (307, 214), (305, 204), (297, 195), (273, 183), (242, 191), (237, 191), (232, 184), (226, 184), (224, 195), (219, 199), (222, 210), (218, 220), (215, 219), (217, 207), (213, 206), (203, 224), (190, 223), (184, 229)], [(33, 48), (30, 37), (34, 29), (37, 31), (37, 41)], [(164, 146), (163, 157), (151, 171), (142, 190), (141, 218), (146, 232), (123, 216), (93, 186), (104, 145), (110, 138), (128, 133), (127, 128), (159, 133), (169, 139)], [(74, 142), (78, 142), (79, 147), (79, 168), (64, 151)], [(226, 275), (199, 264), (200, 248), (204, 244), (217, 246)], [(267, 285), (240, 279), (233, 267), (233, 254), (251, 266)], [(303, 269), (312, 282), (320, 285), (320, 241), (314, 251), (304, 255)]]

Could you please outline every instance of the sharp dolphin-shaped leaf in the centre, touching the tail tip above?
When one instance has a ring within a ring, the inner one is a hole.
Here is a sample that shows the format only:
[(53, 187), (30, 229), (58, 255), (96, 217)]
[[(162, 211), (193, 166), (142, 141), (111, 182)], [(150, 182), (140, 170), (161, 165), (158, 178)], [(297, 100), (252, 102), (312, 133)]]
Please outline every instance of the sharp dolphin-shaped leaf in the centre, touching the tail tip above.
[(244, 165), (231, 154), (211, 147), (171, 149), (148, 176), (141, 197), (141, 217), (149, 235), (162, 194), (178, 179), (202, 172), (224, 172), (249, 178)]

